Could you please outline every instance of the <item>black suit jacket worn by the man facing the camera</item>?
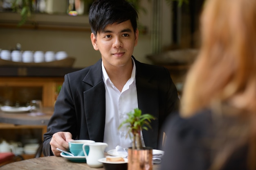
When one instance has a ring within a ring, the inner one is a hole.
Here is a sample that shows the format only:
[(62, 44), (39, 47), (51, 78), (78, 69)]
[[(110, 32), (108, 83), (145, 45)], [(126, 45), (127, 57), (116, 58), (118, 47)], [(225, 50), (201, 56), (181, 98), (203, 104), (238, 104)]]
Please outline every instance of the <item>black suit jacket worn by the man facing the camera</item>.
[[(142, 113), (150, 113), (157, 118), (151, 123), (152, 129), (142, 131), (144, 142), (148, 147), (159, 148), (162, 123), (179, 106), (177, 89), (166, 68), (137, 60), (135, 65), (138, 107)], [(44, 134), (45, 156), (53, 155), (49, 142), (58, 131), (72, 133), (73, 139), (103, 142), (105, 94), (101, 59), (92, 66), (65, 75), (54, 114)]]

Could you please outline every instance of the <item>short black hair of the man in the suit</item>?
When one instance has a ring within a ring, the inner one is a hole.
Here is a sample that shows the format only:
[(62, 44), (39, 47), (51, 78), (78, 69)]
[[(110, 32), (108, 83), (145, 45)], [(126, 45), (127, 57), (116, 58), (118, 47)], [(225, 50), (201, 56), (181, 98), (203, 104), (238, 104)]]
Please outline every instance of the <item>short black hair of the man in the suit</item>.
[(136, 9), (126, 0), (94, 0), (89, 11), (89, 23), (95, 36), (108, 24), (120, 24), (127, 20), (130, 20), (135, 32), (137, 19)]

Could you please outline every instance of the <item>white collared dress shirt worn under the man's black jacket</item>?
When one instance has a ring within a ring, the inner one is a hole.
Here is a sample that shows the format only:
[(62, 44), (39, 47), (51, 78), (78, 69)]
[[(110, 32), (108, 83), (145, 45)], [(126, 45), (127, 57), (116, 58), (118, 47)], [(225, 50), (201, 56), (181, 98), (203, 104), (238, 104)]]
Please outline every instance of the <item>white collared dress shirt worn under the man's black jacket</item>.
[[(127, 134), (128, 130), (125, 125), (121, 127), (121, 129), (118, 129), (119, 125), (128, 117), (126, 114), (133, 111), (133, 109), (138, 108), (135, 82), (136, 66), (133, 59), (132, 62), (132, 74), (130, 79), (124, 85), (122, 92), (120, 92), (110, 81), (104, 65), (101, 63), (103, 81), (106, 89), (106, 119), (103, 142), (106, 142), (108, 147), (105, 151), (115, 149), (117, 145), (123, 148), (129, 148), (132, 146), (132, 140)], [(141, 139), (142, 144), (145, 146), (142, 133)]]

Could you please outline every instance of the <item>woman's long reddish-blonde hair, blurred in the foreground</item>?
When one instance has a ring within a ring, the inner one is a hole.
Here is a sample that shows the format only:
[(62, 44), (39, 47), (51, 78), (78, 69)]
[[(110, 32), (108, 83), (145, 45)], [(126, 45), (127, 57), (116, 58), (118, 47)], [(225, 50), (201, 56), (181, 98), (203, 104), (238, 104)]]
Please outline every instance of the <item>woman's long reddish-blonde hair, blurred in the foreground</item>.
[(216, 101), (256, 113), (256, 0), (206, 1), (201, 33), (181, 115), (191, 116)]

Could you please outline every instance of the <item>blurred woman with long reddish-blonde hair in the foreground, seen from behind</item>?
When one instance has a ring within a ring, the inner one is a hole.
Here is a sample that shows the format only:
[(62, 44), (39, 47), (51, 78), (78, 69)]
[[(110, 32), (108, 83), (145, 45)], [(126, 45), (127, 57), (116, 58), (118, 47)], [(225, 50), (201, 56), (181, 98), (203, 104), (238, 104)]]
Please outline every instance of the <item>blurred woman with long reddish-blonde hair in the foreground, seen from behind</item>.
[(256, 0), (207, 0), (161, 170), (256, 170)]

